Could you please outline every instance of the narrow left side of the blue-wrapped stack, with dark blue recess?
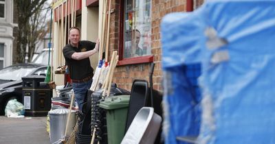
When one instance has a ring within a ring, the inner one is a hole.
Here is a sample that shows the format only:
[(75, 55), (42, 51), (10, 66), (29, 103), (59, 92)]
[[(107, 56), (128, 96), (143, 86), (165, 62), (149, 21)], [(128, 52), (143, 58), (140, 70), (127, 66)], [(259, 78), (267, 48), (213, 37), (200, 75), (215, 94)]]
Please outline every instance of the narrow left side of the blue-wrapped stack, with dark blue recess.
[[(199, 14), (199, 11), (169, 14), (162, 21), (165, 143), (184, 144), (186, 142), (177, 141), (176, 137), (199, 134), (201, 93), (197, 77), (201, 74), (198, 62), (204, 29)], [(184, 51), (188, 51), (186, 56), (182, 54)], [(184, 64), (190, 60), (197, 62)]]

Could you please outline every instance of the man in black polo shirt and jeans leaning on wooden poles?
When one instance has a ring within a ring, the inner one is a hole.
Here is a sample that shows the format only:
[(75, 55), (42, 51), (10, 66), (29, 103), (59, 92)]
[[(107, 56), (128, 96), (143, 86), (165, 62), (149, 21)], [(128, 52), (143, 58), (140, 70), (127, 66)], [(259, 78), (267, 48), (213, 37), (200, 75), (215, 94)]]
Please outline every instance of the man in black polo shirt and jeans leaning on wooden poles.
[(69, 76), (72, 80), (74, 95), (78, 103), (78, 110), (82, 112), (87, 90), (91, 87), (94, 69), (91, 67), (89, 56), (98, 52), (99, 40), (96, 43), (80, 40), (80, 29), (69, 29), (69, 44), (63, 48)]

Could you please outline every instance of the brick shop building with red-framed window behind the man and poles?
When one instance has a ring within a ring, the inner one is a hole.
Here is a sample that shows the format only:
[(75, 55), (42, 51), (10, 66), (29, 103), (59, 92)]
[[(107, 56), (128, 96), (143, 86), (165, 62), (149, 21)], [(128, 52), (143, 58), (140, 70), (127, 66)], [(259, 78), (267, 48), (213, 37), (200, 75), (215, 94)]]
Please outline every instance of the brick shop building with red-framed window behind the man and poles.
[[(103, 8), (102, 1), (76, 0), (76, 26), (81, 27), (82, 33), (91, 34), (88, 26), (83, 27), (83, 25), (90, 25), (89, 14), (83, 16), (83, 12), (89, 13), (98, 10), (98, 20), (95, 21), (100, 23), (102, 16), (100, 15), (102, 13), (100, 8)], [(67, 2), (65, 1), (65, 3)], [(171, 12), (192, 11), (194, 8), (199, 7), (201, 3), (203, 3), (203, 0), (111, 0), (109, 60), (112, 51), (118, 51), (120, 56), (120, 61), (113, 74), (113, 82), (121, 88), (131, 90), (133, 80), (149, 80), (150, 64), (155, 62), (153, 88), (162, 91), (162, 45), (160, 35), (162, 17)], [(74, 10), (67, 10), (69, 14), (61, 14), (62, 8), (58, 6), (61, 4), (58, 4), (58, 1), (55, 1), (55, 4), (56, 26), (61, 27), (61, 23), (58, 23), (57, 19), (62, 21), (61, 17), (63, 16), (63, 21), (65, 21), (67, 15), (68, 21), (65, 23), (69, 23), (69, 19), (72, 19), (72, 16), (70, 18), (70, 14), (72, 14), (70, 11)], [(59, 16), (57, 16), (58, 11)], [(63, 12), (66, 12), (66, 10), (63, 9)], [(85, 21), (85, 19), (87, 20)], [(67, 24), (67, 27), (69, 25)], [(96, 28), (100, 29), (101, 26), (98, 24)], [(137, 29), (139, 32), (134, 32), (133, 29)], [(67, 29), (64, 31), (66, 32)], [(55, 32), (57, 32), (57, 29), (55, 29)], [(58, 32), (61, 32), (61, 30), (59, 29)], [(85, 37), (87, 40), (96, 40), (96, 38), (89, 38), (88, 34), (86, 36), (81, 35), (81, 37), (82, 39)], [(54, 43), (58, 42), (54, 41)], [(57, 44), (56, 47), (61, 47), (61, 45)], [(136, 50), (138, 48), (140, 51)], [(64, 58), (62, 58), (61, 49), (56, 49), (58, 65), (64, 64), (62, 59)], [(97, 62), (94, 62), (94, 69), (96, 69), (96, 64)], [(59, 77), (59, 75), (56, 76)]]

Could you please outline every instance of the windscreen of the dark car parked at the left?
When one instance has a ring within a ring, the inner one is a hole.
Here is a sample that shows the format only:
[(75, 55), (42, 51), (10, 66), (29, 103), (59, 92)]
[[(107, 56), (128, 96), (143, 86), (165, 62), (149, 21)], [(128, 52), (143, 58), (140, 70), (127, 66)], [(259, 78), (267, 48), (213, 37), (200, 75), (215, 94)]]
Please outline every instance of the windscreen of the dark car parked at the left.
[(34, 69), (36, 69), (36, 67), (6, 67), (0, 71), (0, 80), (21, 80), (21, 77), (29, 75)]

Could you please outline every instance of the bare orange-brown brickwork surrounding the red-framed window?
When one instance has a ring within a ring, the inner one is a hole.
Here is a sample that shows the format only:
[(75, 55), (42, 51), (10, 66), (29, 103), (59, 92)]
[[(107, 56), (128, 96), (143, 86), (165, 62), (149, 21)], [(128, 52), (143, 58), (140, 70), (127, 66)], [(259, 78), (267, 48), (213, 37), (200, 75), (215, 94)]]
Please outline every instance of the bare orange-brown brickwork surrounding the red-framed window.
[[(196, 0), (201, 3), (203, 0)], [(110, 35), (110, 54), (113, 50), (118, 50), (120, 43), (120, 4), (122, 0), (116, 0), (112, 3), (112, 9), (115, 11), (111, 14), (111, 35)], [(197, 5), (197, 4), (196, 4)], [(185, 0), (152, 0), (152, 36), (151, 36), (151, 53), (154, 56), (155, 71), (153, 74), (153, 88), (162, 91), (162, 45), (160, 41), (160, 23), (162, 17), (170, 12), (185, 12)], [(110, 58), (109, 58), (110, 59)], [(133, 80), (141, 79), (149, 82), (150, 64), (131, 64), (118, 66), (113, 75), (113, 82), (119, 87), (131, 91)]]

